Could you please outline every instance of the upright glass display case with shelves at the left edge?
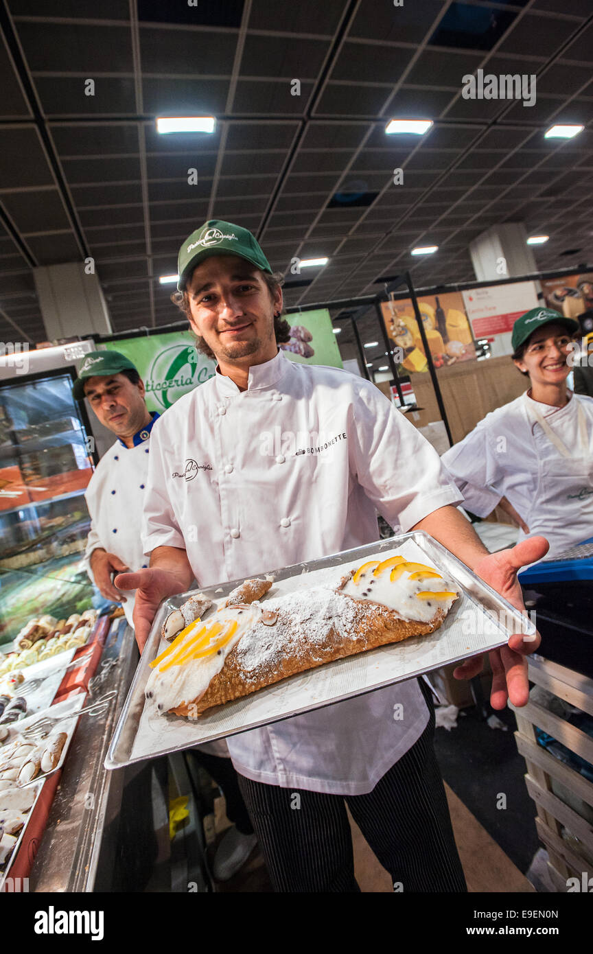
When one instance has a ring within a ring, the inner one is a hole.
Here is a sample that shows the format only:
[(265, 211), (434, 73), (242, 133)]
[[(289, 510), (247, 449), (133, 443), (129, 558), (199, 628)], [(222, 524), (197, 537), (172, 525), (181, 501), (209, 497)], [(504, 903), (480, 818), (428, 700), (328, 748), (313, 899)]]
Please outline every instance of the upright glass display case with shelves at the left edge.
[(89, 431), (69, 370), (0, 382), (0, 643), (31, 616), (92, 605)]

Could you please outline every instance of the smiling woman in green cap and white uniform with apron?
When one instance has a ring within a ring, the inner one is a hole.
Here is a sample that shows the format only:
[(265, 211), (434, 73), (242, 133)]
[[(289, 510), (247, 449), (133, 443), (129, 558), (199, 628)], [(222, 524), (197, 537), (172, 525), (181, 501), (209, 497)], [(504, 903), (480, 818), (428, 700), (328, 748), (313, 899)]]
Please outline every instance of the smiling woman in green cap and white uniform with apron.
[(593, 536), (593, 399), (566, 386), (578, 321), (532, 308), (513, 326), (513, 361), (529, 378), (521, 397), (487, 414), (442, 455), (465, 506), (486, 517), (501, 504), (522, 539), (548, 555)]

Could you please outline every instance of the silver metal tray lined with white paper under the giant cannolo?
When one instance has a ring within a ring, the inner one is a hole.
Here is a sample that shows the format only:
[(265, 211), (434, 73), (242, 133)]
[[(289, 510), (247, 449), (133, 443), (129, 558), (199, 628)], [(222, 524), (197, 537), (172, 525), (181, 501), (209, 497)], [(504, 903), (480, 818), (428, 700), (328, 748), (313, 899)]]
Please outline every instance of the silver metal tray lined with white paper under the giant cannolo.
[[(270, 570), (274, 585), (261, 601), (316, 586), (337, 587), (344, 573), (365, 560), (386, 560), (402, 555), (439, 570), (460, 593), (438, 630), (402, 642), (380, 646), (365, 653), (327, 662), (307, 672), (291, 675), (193, 718), (158, 715), (145, 706), (145, 687), (152, 673), (151, 662), (168, 645), (161, 628), (169, 614), (192, 593), (180, 593), (161, 604), (153, 620), (140, 663), (133, 678), (105, 760), (108, 769), (145, 758), (166, 755), (214, 741), (217, 738), (268, 725), (280, 719), (309, 712), (352, 696), (411, 679), (449, 663), (485, 653), (508, 641), (513, 633), (535, 638), (535, 626), (525, 613), (511, 606), (472, 570), (426, 533), (414, 531), (346, 550), (283, 570)], [(257, 576), (264, 573), (254, 574)], [(214, 601), (206, 622), (227, 595), (243, 582), (235, 580), (200, 590)]]

